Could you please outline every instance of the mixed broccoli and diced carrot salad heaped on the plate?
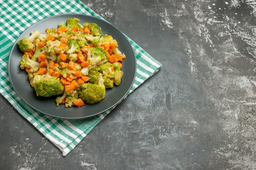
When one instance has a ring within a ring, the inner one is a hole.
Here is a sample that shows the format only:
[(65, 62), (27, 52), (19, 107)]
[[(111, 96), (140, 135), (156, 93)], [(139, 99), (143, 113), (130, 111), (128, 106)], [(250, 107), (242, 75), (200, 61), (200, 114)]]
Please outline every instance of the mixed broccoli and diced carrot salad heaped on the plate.
[(27, 72), (36, 95), (56, 96), (56, 106), (81, 107), (105, 97), (106, 88), (121, 83), (122, 60), (111, 35), (103, 35), (96, 23), (80, 24), (68, 18), (56, 28), (38, 30), (18, 41), (24, 54), (20, 68)]

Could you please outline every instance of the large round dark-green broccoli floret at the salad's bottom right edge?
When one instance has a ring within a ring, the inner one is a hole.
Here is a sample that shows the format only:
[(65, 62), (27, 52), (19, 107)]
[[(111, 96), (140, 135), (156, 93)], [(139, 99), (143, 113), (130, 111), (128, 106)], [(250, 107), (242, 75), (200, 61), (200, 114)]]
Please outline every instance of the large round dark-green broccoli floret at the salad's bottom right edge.
[(85, 83), (81, 85), (79, 97), (88, 104), (95, 104), (105, 98), (106, 89), (99, 84)]

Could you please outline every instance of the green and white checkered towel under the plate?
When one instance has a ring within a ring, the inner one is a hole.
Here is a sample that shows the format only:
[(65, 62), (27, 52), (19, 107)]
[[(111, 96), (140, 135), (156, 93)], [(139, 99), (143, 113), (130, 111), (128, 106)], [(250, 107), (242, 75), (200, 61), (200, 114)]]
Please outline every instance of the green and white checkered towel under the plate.
[[(13, 91), (8, 77), (8, 58), (18, 36), (43, 18), (63, 13), (81, 13), (101, 18), (79, 0), (0, 0), (0, 93), (18, 112), (66, 156), (108, 113), (81, 120), (56, 119), (36, 112)], [(137, 73), (128, 94), (162, 67), (128, 38), (135, 51)], [(3, 114), (3, 113), (2, 113)]]

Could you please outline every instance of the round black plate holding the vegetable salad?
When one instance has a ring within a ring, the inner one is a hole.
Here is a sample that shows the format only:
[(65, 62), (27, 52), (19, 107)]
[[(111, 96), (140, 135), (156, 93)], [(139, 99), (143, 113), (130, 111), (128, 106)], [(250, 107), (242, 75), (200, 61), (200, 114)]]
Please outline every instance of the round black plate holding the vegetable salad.
[[(56, 28), (60, 22), (65, 22), (67, 18), (74, 17), (79, 18), (82, 25), (84, 22), (97, 23), (101, 27), (103, 35), (112, 35), (112, 37), (117, 40), (119, 50), (126, 54), (126, 58), (122, 62), (122, 71), (124, 72), (124, 76), (121, 79), (121, 84), (119, 86), (114, 86), (111, 89), (107, 89), (105, 99), (101, 100), (97, 104), (85, 104), (81, 108), (65, 108), (63, 104), (57, 107), (55, 103), (56, 97), (45, 98), (36, 96), (34, 88), (30, 86), (27, 79), (27, 73), (25, 70), (21, 70), (19, 67), (23, 53), (18, 48), (17, 42), (18, 40), (29, 36), (31, 31), (39, 30), (41, 33), (45, 33), (46, 28)], [(98, 115), (99, 113), (103, 113), (117, 105), (130, 90), (136, 74), (135, 54), (132, 46), (123, 33), (115, 28), (115, 26), (112, 26), (110, 23), (104, 20), (89, 15), (73, 13), (54, 15), (49, 18), (45, 18), (26, 29), (14, 43), (11, 49), (8, 64), (10, 82), (18, 96), (31, 108), (34, 108), (40, 113), (63, 119), (81, 119), (91, 117)]]

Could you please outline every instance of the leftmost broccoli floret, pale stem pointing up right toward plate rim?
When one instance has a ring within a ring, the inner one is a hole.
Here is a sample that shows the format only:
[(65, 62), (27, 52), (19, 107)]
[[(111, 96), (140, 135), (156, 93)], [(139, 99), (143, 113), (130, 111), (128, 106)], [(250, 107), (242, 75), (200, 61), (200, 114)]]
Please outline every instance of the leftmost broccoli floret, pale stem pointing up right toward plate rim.
[(20, 48), (21, 51), (23, 52), (28, 52), (33, 50), (33, 42), (34, 40), (40, 35), (40, 32), (37, 30), (33, 33), (31, 33), (31, 35), (29, 37), (26, 38), (22, 38), (21, 40), (18, 41), (18, 46)]

